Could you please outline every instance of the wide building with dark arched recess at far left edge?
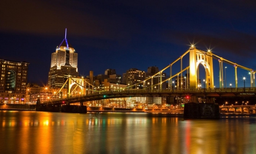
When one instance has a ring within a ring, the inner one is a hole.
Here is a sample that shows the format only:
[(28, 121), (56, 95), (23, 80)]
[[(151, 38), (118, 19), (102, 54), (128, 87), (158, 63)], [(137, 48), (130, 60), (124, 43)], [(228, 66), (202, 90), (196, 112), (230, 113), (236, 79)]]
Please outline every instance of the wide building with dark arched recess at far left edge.
[(0, 103), (24, 103), (28, 64), (0, 59)]

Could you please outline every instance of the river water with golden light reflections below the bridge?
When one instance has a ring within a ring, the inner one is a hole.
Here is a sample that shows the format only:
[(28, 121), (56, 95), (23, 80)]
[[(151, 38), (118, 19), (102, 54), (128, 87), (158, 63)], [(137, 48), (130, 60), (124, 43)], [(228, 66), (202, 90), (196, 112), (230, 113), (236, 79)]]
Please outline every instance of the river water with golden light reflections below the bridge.
[(0, 153), (256, 153), (256, 117), (0, 111)]

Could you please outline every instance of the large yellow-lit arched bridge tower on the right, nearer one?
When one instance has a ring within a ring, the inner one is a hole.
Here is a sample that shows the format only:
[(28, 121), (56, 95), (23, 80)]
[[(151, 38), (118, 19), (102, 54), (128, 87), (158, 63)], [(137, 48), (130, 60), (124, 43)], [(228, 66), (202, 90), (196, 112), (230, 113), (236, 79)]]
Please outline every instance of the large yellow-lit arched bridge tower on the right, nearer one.
[(205, 88), (214, 88), (212, 52), (204, 52), (193, 45), (189, 48), (189, 88), (199, 88), (199, 65), (205, 69)]

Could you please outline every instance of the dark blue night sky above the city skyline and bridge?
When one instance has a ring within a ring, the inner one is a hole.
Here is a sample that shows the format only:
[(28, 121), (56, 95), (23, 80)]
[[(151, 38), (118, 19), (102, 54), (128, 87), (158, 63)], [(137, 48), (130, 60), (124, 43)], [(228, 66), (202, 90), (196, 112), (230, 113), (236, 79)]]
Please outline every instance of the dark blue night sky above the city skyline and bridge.
[[(30, 63), (28, 82), (46, 85), (51, 53), (67, 39), (81, 76), (164, 68), (189, 45), (256, 69), (256, 1), (1, 1), (1, 59)], [(184, 60), (184, 63), (185, 60)], [(184, 64), (184, 67), (187, 66)], [(234, 68), (226, 65), (227, 84)], [(176, 66), (180, 69), (180, 66)], [(175, 68), (174, 68), (175, 69)], [(218, 86), (218, 64), (214, 84)], [(168, 71), (167, 71), (168, 74)], [(174, 74), (174, 73), (173, 73)], [(203, 75), (204, 76), (204, 75)], [(200, 78), (201, 76), (200, 71)], [(247, 71), (238, 69), (238, 86)]]

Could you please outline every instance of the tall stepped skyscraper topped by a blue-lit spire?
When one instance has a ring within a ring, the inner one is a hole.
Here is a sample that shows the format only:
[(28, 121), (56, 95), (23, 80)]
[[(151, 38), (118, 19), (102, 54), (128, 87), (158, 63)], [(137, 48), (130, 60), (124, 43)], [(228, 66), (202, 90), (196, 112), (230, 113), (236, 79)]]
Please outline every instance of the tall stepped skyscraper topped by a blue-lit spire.
[(51, 89), (61, 88), (68, 76), (77, 77), (77, 53), (66, 38), (57, 46), (56, 51), (52, 53), (51, 68), (48, 76), (48, 86)]

